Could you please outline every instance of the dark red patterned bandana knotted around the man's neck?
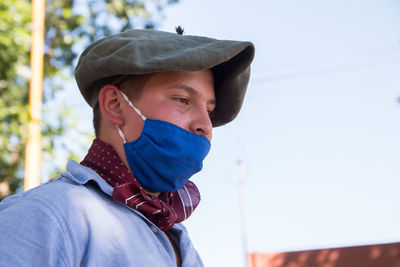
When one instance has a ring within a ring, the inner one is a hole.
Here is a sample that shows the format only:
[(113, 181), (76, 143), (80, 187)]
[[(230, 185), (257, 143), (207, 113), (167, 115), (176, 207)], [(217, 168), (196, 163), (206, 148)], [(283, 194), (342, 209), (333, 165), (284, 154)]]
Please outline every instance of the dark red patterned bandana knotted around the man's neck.
[(148, 195), (114, 148), (98, 139), (93, 140), (81, 164), (114, 188), (115, 200), (140, 211), (163, 231), (186, 220), (200, 202), (200, 193), (191, 181), (178, 191), (163, 192), (158, 197)]

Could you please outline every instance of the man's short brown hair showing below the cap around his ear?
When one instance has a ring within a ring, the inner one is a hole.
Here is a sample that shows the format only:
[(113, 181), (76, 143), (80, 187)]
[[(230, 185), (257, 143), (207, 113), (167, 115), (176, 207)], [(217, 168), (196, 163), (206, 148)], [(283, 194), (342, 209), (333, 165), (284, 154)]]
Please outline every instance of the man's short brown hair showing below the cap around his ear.
[[(130, 99), (139, 100), (143, 88), (146, 82), (150, 79), (153, 74), (142, 74), (142, 75), (132, 75), (128, 76), (126, 79), (115, 84), (124, 94), (126, 94)], [(93, 127), (96, 138), (100, 135), (101, 127), (101, 112), (99, 107), (99, 102), (93, 106)]]

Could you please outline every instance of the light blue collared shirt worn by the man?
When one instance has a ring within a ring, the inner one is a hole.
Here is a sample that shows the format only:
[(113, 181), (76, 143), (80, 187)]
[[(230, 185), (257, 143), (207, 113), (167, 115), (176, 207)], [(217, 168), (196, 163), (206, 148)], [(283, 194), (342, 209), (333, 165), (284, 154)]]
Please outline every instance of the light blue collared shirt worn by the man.
[[(60, 178), (1, 201), (0, 266), (176, 266), (164, 233), (112, 191), (70, 161)], [(166, 233), (182, 267), (203, 266), (182, 224)]]

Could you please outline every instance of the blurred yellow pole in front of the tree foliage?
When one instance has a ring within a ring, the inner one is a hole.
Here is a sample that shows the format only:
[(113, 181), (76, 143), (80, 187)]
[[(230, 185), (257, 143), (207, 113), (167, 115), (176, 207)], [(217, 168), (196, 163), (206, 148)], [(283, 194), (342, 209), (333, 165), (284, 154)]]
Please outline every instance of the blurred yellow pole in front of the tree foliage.
[(32, 1), (31, 79), (29, 83), (29, 126), (28, 142), (25, 147), (24, 190), (40, 185), (44, 7), (45, 0)]

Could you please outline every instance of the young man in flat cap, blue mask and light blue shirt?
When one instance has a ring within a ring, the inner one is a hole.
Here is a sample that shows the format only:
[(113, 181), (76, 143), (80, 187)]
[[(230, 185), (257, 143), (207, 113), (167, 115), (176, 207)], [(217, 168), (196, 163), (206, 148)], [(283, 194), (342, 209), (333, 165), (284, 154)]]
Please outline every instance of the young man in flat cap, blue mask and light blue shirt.
[(96, 139), (60, 178), (0, 203), (0, 265), (202, 266), (186, 229), (212, 128), (233, 120), (254, 46), (155, 30), (94, 42), (75, 70)]

